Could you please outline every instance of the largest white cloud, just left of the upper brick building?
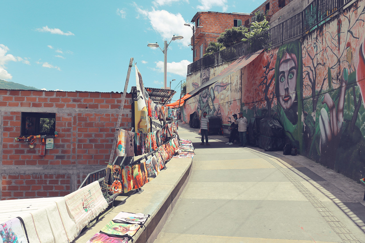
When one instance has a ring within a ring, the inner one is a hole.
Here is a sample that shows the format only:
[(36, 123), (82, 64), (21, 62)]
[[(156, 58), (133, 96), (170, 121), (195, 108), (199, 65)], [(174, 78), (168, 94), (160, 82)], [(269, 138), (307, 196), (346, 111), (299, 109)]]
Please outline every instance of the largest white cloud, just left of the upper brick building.
[[(173, 35), (182, 35), (184, 39), (175, 40), (175, 42), (186, 47), (190, 45), (192, 30), (190, 27), (184, 26), (185, 23), (188, 23), (188, 20), (184, 20), (180, 13), (175, 15), (166, 10), (155, 10), (154, 8), (152, 8), (152, 11), (146, 11), (138, 6), (136, 6), (136, 10), (150, 20), (153, 30), (158, 32), (164, 40), (170, 42)], [(155, 42), (155, 40), (150, 42)]]

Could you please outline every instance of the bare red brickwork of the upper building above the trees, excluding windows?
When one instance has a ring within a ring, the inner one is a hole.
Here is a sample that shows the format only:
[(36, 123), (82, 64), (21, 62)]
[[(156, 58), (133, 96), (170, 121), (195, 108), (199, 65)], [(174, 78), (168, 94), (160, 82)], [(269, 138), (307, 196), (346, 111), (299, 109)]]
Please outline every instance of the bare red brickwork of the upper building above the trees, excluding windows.
[[(203, 55), (205, 48), (207, 48), (209, 42), (217, 41), (217, 37), (228, 28), (233, 27), (233, 20), (242, 20), (242, 25), (245, 24), (247, 19), (251, 18), (251, 15), (233, 14), (233, 13), (216, 13), (216, 12), (202, 12), (197, 18), (200, 20), (200, 25), (203, 28), (196, 28), (195, 36), (203, 34), (203, 38), (195, 44), (196, 57), (194, 61), (202, 58), (200, 57), (200, 46), (203, 44)], [(192, 41), (192, 39), (191, 39)]]

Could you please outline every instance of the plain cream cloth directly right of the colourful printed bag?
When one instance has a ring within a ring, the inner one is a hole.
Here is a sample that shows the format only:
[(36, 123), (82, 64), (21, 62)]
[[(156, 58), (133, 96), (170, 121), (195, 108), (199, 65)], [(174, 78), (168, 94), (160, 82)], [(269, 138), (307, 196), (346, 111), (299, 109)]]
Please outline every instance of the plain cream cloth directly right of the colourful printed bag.
[[(20, 216), (27, 229), (29, 243), (54, 243), (46, 208)], [(60, 225), (61, 226), (61, 225)]]

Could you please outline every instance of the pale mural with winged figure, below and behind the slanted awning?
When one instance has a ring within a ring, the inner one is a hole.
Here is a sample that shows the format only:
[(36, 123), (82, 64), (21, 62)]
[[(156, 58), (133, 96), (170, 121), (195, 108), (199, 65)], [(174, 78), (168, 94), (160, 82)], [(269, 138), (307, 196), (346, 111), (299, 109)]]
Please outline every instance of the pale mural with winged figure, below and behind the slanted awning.
[[(195, 76), (188, 77), (187, 84), (191, 85), (188, 87), (188, 90), (193, 90), (204, 85), (227, 66), (228, 64), (222, 65), (219, 67), (220, 69), (216, 70), (214, 70), (214, 67), (208, 67), (202, 69), (201, 72), (195, 74)], [(196, 111), (198, 116), (201, 116), (203, 112), (206, 111), (208, 115), (222, 117), (222, 122), (224, 123), (224, 120), (228, 119), (228, 116), (239, 111), (239, 104), (241, 103), (239, 98), (241, 91), (238, 86), (238, 76), (235, 76), (233, 79), (223, 78), (202, 90), (199, 95), (187, 100), (184, 103), (183, 112), (185, 122), (189, 121), (189, 116), (193, 112)], [(235, 88), (234, 92), (232, 87)]]

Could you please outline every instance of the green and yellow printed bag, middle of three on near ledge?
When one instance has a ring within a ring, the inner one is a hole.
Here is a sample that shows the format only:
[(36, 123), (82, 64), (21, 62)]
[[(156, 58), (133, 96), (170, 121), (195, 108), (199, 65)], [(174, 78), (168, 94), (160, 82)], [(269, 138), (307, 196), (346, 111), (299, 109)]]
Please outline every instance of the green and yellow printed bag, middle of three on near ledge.
[(100, 233), (117, 237), (127, 235), (134, 236), (139, 228), (141, 228), (140, 224), (116, 223), (110, 221), (101, 229)]

